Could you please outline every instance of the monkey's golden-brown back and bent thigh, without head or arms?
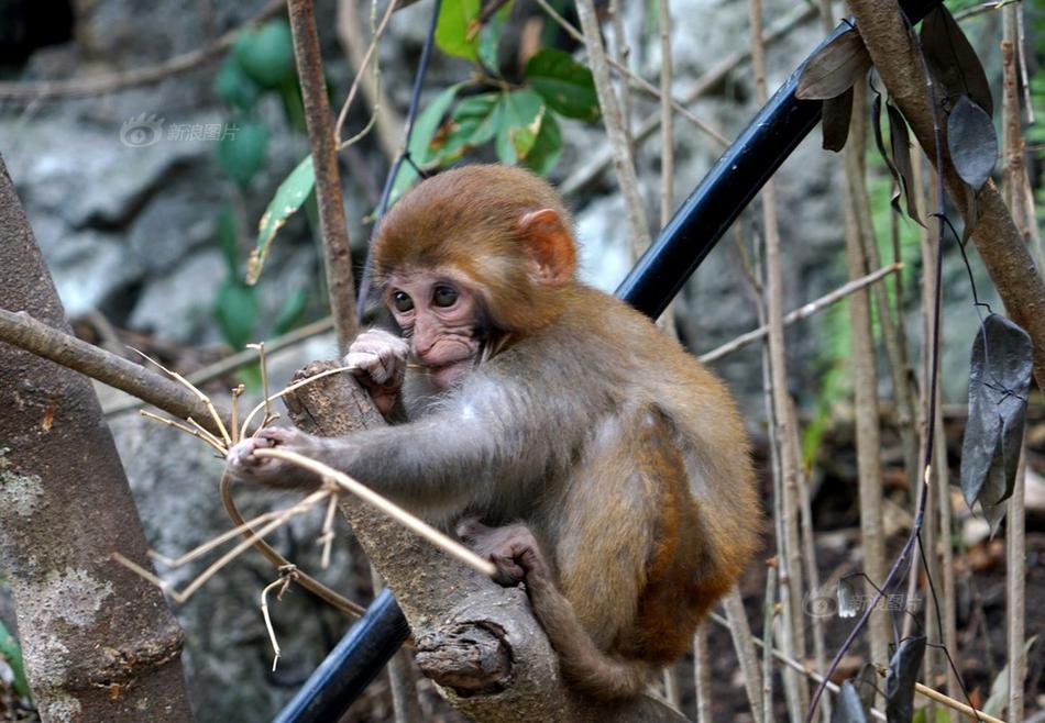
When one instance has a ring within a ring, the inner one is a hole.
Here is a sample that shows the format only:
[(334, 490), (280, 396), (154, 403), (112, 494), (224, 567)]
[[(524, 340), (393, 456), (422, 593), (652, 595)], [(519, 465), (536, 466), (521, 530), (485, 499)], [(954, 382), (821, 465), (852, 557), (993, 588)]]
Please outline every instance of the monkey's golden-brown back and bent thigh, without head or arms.
[[(596, 644), (664, 665), (758, 547), (747, 435), (725, 386), (645, 315), (587, 287), (571, 297), (549, 348), (585, 355), (575, 389), (603, 398), (605, 413), (566, 499), (552, 502), (552, 516), (594, 520), (557, 521), (560, 585)], [(583, 538), (593, 534), (610, 540)]]

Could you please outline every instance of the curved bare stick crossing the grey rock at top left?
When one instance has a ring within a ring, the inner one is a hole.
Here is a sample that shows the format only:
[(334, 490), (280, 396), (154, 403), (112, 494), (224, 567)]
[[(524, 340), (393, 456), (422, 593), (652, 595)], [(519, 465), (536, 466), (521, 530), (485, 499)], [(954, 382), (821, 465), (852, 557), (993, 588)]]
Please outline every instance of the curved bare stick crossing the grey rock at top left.
[[(283, 9), (283, 0), (273, 0), (249, 20), (244, 27), (256, 25), (275, 15)], [(207, 47), (177, 55), (158, 65), (146, 68), (134, 68), (127, 73), (110, 73), (88, 78), (72, 78), (69, 80), (0, 82), (0, 98), (36, 102), (57, 98), (98, 96), (116, 90), (124, 90), (125, 88), (133, 88), (134, 86), (157, 82), (169, 76), (191, 70), (197, 66), (217, 59), (228, 48), (232, 47), (232, 44), (235, 43), (235, 38), (241, 32), (243, 32), (243, 27), (237, 27)]]

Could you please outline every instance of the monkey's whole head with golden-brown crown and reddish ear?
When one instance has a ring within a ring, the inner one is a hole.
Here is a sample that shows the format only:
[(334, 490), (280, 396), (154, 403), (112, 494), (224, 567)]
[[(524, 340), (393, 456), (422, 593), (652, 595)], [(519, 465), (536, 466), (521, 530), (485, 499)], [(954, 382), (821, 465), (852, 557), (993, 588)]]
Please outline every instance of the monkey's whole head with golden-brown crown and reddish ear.
[(576, 247), (562, 199), (520, 168), (465, 166), (425, 180), (385, 216), (373, 279), (438, 387), (484, 345), (552, 322)]

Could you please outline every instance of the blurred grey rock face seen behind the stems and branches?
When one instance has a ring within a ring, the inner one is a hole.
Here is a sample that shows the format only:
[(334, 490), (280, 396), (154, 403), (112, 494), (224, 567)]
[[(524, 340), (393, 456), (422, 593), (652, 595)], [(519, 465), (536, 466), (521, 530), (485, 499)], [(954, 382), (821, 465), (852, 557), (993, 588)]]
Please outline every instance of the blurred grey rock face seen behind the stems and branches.
[[(642, 3), (626, 4), (632, 65), (646, 78), (654, 79), (659, 69), (656, 33), (644, 31), (654, 21), (644, 18)], [(769, 21), (792, 11), (793, 4), (768, 2)], [(0, 3), (0, 77), (29, 81), (134, 71), (213, 42), (262, 5), (256, 0), (10, 0)], [(328, 82), (337, 108), (353, 74), (334, 37), (334, 3), (320, 1), (317, 5)], [(534, 12), (525, 2), (517, 5), (517, 14)], [(366, 16), (369, 5), (360, 3), (358, 11)], [(398, 12), (381, 47), (384, 88), (400, 113), (409, 100), (430, 11), (430, 3), (418, 2)], [(672, 12), (679, 92), (748, 42), (746, 3), (673, 0)], [(988, 32), (990, 27), (983, 30), (985, 36), (997, 36)], [(811, 18), (770, 48), (770, 88), (784, 80), (820, 36), (818, 25)], [(988, 65), (997, 63), (994, 55), (985, 54)], [(239, 257), (245, 259), (256, 220), (278, 183), (307, 153), (304, 133), (295, 127), (279, 98), (265, 98), (258, 105), (267, 126), (264, 163), (248, 185), (230, 180), (217, 162), (220, 144), (212, 137), (213, 129), (223, 130), (235, 122), (233, 112), (215, 90), (219, 67), (220, 58), (160, 82), (82, 98), (25, 102), (0, 94), (0, 155), (68, 315), (92, 341), (119, 349), (121, 342), (131, 340), (188, 371), (228, 351), (229, 338), (216, 313), (228, 277), (219, 227), (222, 210), (231, 207), (234, 218), (243, 222)], [(461, 80), (466, 73), (465, 66), (437, 53), (426, 81), (426, 98)], [(740, 65), (691, 110), (732, 138), (756, 110), (752, 96), (750, 70)], [(657, 112), (652, 102), (638, 93), (632, 93), (632, 99), (636, 118)], [(365, 124), (366, 115), (360, 108), (358, 103), (349, 127)], [(158, 127), (163, 136), (141, 144), (134, 133), (142, 127)], [(681, 201), (714, 163), (721, 146), (683, 119), (678, 119), (674, 127), (676, 201)], [(557, 181), (568, 178), (604, 142), (601, 127), (579, 122), (564, 124), (563, 133), (565, 152), (551, 175)], [(650, 219), (657, 218), (659, 208), (658, 143), (652, 138), (637, 154)], [(387, 160), (373, 136), (344, 154), (346, 213), (360, 259), (370, 233), (365, 220), (373, 212), (386, 173)], [(777, 179), (785, 297), (791, 309), (845, 281), (840, 164), (820, 148), (818, 133), (814, 132)], [(624, 207), (615, 189), (609, 171), (568, 199), (584, 246), (585, 274), (608, 290), (630, 267), (624, 238), (626, 224), (622, 223)], [(879, 196), (888, 202), (884, 194)], [(292, 219), (276, 241), (273, 259), (258, 287), (252, 341), (275, 333), (289, 305), (299, 307), (299, 320), (323, 313), (326, 296), (317, 245), (305, 216), (299, 213)], [(888, 215), (880, 214), (877, 221), (883, 231)], [(755, 218), (748, 215), (738, 224), (745, 237), (750, 237), (754, 223)], [(901, 224), (910, 226), (911, 222)], [(905, 233), (916, 237), (913, 226)], [(916, 243), (910, 247), (912, 263), (904, 274), (912, 302), (917, 299), (916, 248)], [(975, 256), (972, 263), (977, 264)], [(985, 275), (977, 270), (977, 276), (981, 296), (1000, 309)], [(957, 256), (948, 254), (943, 378), (950, 401), (961, 401), (965, 394), (968, 348), (977, 323), (970, 310), (965, 269)], [(920, 322), (914, 314), (910, 319), (916, 354), (915, 330)], [(835, 365), (845, 364), (846, 343), (838, 348), (838, 330), (846, 324), (847, 316), (839, 309), (789, 332), (792, 385), (796, 398), (810, 409), (816, 404), (823, 376)], [(678, 325), (697, 352), (757, 326), (751, 291), (733, 236), (719, 244), (686, 287), (678, 304)], [(285, 381), (307, 360), (332, 354), (332, 340), (318, 337), (279, 355), (273, 360), (274, 383)], [(716, 366), (741, 397), (756, 437), (763, 436), (759, 364), (759, 347), (752, 346)], [(888, 375), (882, 374), (881, 379), (882, 391), (888, 392)], [(229, 383), (218, 385), (219, 390), (232, 383), (226, 381)], [(119, 401), (110, 390), (101, 389), (100, 393), (109, 404)], [(845, 416), (844, 399), (838, 400), (837, 411)], [(227, 529), (217, 491), (221, 465), (206, 447), (133, 414), (114, 415), (112, 430), (146, 534), (157, 550), (177, 556)], [(244, 509), (254, 513), (286, 502), (250, 490), (239, 490), (239, 497)], [(318, 525), (318, 520), (302, 521), (276, 535), (275, 543), (288, 557), (316, 570), (314, 540)], [(366, 585), (360, 589), (360, 580), (366, 579), (365, 563), (350, 558), (348, 546), (342, 545), (324, 579), (349, 597), (365, 599)], [(183, 587), (199, 569), (189, 565), (162, 572)], [(273, 603), (285, 650), (278, 669), (272, 672), (258, 593), (273, 579), (271, 566), (249, 553), (177, 608), (187, 634), (186, 668), (201, 722), (270, 720), (346, 629), (344, 618), (306, 593), (292, 590), (283, 602)], [(10, 610), (2, 601), (2, 578), (0, 619), (12, 626)]]

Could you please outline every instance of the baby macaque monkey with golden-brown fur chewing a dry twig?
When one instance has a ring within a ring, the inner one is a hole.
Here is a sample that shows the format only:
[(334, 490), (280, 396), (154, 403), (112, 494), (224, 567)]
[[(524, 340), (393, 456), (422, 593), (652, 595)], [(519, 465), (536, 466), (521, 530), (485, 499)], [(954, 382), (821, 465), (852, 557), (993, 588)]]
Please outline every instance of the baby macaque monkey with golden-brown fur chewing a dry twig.
[(568, 683), (605, 700), (641, 693), (690, 647), (758, 547), (761, 511), (729, 393), (646, 316), (576, 280), (571, 223), (518, 168), (421, 182), (373, 246), (399, 334), (364, 332), (346, 359), (402, 423), (333, 438), (263, 430), (228, 467), (318, 483), (253, 455), (284, 447), (457, 529), (502, 582), (526, 583)]

